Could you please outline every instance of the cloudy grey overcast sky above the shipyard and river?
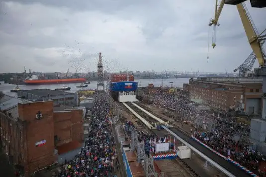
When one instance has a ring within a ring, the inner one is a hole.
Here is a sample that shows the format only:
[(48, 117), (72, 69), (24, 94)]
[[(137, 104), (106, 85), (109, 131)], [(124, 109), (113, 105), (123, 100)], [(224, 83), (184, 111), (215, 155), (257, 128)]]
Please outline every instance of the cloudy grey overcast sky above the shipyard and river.
[[(246, 5), (263, 31), (265, 8)], [(0, 73), (94, 71), (99, 52), (107, 71), (231, 72), (252, 50), (236, 6), (225, 5), (207, 62), (214, 7), (215, 0), (1, 0)]]

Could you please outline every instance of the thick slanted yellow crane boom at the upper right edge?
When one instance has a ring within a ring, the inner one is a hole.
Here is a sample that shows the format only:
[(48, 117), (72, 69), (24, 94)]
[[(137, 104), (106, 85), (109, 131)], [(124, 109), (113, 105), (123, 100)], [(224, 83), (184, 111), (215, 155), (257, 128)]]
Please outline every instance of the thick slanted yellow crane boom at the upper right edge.
[(256, 34), (255, 28), (251, 23), (251, 20), (246, 12), (244, 4), (243, 3), (238, 4), (237, 10), (240, 15), (250, 46), (254, 54), (256, 55), (256, 58), (258, 59), (259, 65), (264, 66), (265, 60), (264, 60), (263, 50), (260, 44), (260, 39)]

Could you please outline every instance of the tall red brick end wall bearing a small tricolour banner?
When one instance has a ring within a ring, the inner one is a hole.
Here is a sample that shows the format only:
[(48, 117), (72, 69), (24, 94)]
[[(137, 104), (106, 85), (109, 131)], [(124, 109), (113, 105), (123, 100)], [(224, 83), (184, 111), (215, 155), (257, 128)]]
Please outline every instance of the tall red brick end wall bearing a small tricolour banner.
[[(27, 150), (28, 165), (25, 171), (33, 173), (55, 162), (54, 155), (54, 121), (53, 102), (34, 102), (28, 104), (18, 104), (19, 118), (26, 121), (25, 142)], [(41, 120), (36, 119), (36, 114), (40, 111), (43, 115)], [(35, 143), (46, 140), (46, 144), (35, 147)]]

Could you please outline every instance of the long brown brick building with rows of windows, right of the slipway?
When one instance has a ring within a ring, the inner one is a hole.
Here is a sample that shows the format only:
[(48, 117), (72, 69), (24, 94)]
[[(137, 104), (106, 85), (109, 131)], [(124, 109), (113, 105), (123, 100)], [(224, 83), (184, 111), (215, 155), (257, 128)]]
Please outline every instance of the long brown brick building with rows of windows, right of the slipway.
[(246, 114), (262, 112), (262, 83), (211, 82), (190, 79), (184, 85), (190, 98), (200, 104), (209, 105), (218, 110), (239, 110)]

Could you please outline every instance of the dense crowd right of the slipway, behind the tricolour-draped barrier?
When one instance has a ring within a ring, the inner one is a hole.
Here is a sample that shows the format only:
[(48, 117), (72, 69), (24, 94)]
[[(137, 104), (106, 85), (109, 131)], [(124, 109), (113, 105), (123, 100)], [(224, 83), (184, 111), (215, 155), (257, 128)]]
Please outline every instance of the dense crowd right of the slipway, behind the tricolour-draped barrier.
[(182, 92), (175, 94), (158, 93), (153, 97), (153, 104), (160, 108), (172, 108), (179, 113), (182, 121), (192, 121), (194, 125), (200, 118), (201, 125), (212, 122), (209, 129), (196, 128), (194, 136), (216, 151), (240, 163), (254, 173), (265, 176), (265, 156), (253, 150), (249, 144), (250, 126), (237, 122), (230, 113), (217, 114), (196, 109), (189, 97)]

